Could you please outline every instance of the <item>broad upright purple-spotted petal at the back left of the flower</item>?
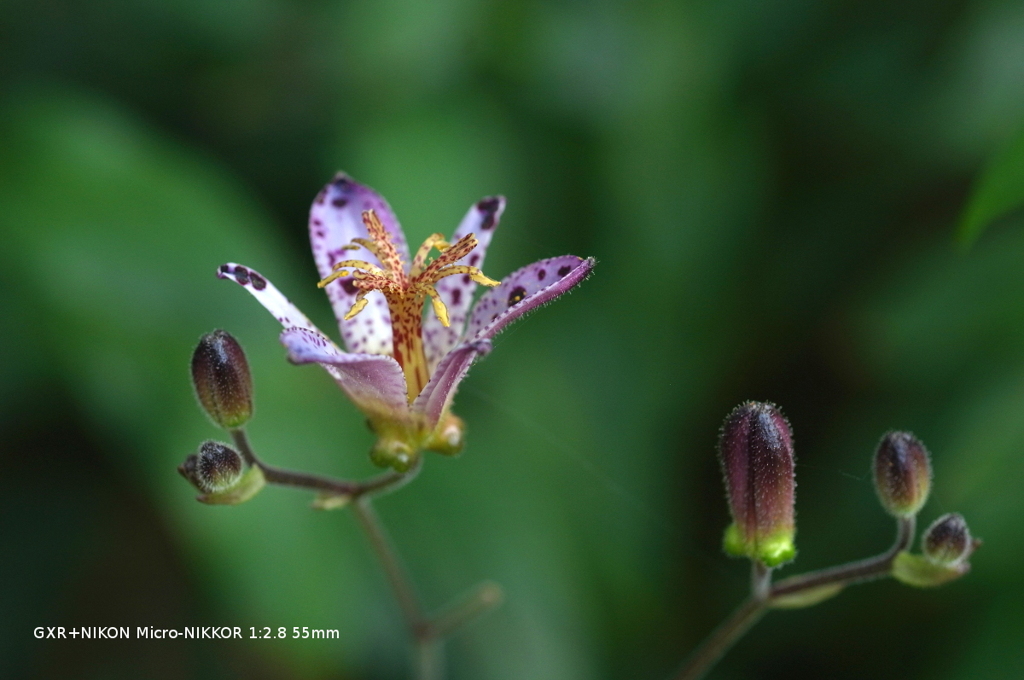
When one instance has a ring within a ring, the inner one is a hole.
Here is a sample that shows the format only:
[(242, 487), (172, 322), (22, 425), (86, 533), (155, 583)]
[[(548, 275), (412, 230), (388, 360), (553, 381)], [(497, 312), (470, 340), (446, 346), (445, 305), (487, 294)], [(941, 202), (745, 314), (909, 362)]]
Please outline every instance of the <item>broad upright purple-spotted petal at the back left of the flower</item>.
[[(369, 186), (339, 173), (316, 195), (309, 209), (309, 242), (321, 279), (331, 274), (334, 265), (341, 260), (359, 259), (380, 264), (377, 257), (365, 249), (345, 250), (352, 239), (369, 238), (362, 223), (365, 210), (377, 213), (398, 253), (406, 262), (409, 261), (406, 237), (387, 201)], [(328, 284), (325, 290), (334, 307), (334, 315), (338, 317), (338, 328), (341, 329), (341, 337), (348, 351), (391, 353), (391, 314), (387, 301), (380, 292), (373, 291), (367, 295), (366, 308), (346, 322), (345, 313), (351, 308), (357, 293), (352, 279), (339, 279)]]

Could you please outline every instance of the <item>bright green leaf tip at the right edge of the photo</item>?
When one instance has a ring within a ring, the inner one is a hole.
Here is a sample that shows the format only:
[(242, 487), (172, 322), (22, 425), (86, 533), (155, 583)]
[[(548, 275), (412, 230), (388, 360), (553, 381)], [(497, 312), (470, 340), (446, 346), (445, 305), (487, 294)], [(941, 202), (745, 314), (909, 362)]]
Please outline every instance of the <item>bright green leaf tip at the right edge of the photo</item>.
[(975, 183), (957, 236), (970, 246), (996, 220), (1024, 206), (1024, 130), (990, 160)]

